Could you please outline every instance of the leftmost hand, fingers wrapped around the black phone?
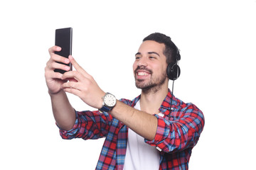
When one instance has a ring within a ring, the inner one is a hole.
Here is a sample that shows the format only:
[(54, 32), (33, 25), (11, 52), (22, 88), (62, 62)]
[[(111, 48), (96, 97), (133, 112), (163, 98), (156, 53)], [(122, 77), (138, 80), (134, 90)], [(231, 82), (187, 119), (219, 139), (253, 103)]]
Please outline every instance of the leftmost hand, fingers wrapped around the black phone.
[(60, 92), (61, 86), (65, 81), (62, 79), (63, 74), (59, 72), (54, 72), (54, 69), (63, 69), (70, 70), (70, 67), (59, 64), (57, 62), (63, 62), (68, 64), (70, 60), (60, 55), (55, 55), (55, 51), (60, 51), (61, 48), (57, 46), (53, 46), (49, 48), (50, 60), (48, 60), (45, 68), (45, 77), (46, 77), (46, 85), (48, 86), (49, 94), (58, 94)]

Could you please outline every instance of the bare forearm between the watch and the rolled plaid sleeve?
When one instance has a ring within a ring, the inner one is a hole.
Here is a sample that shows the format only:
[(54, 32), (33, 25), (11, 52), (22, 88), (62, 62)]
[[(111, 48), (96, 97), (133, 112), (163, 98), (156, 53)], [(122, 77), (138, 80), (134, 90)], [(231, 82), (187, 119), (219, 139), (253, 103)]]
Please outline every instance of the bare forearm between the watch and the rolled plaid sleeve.
[(124, 125), (137, 132), (147, 140), (154, 140), (157, 128), (157, 118), (144, 111), (132, 108), (121, 101), (110, 112), (114, 118), (120, 120)]

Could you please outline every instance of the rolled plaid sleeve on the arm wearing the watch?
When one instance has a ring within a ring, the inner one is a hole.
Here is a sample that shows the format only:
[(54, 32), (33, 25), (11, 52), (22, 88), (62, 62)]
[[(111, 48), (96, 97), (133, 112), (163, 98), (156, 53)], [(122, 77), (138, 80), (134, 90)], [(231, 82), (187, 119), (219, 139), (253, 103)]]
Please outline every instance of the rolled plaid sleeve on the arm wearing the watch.
[(177, 152), (194, 147), (204, 126), (203, 113), (193, 104), (188, 106), (174, 120), (155, 115), (158, 120), (154, 140), (145, 142), (161, 149), (162, 152)]

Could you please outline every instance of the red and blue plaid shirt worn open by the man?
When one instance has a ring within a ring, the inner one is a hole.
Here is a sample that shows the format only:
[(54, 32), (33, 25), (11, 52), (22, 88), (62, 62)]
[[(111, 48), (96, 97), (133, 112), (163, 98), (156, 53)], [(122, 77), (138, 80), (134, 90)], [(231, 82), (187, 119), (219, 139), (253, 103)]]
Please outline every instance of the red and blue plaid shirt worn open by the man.
[[(140, 96), (133, 101), (121, 99), (134, 107)], [(198, 142), (203, 130), (203, 113), (192, 103), (183, 103), (173, 98), (171, 111), (171, 91), (164, 99), (159, 111), (163, 116), (154, 115), (158, 120), (154, 140), (145, 142), (159, 149), (159, 169), (188, 169), (191, 150)], [(171, 111), (171, 114), (170, 114)], [(123, 169), (127, 148), (128, 127), (108, 113), (99, 111), (76, 112), (72, 130), (60, 130), (63, 139), (80, 137), (84, 140), (106, 137), (96, 169)]]

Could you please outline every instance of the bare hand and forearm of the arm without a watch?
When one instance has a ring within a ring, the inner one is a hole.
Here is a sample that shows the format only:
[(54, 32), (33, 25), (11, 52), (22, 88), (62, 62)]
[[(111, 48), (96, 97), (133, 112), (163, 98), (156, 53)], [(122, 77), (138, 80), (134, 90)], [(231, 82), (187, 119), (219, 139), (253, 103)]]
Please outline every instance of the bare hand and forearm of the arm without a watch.
[(45, 68), (46, 85), (48, 86), (48, 93), (53, 108), (53, 115), (57, 125), (65, 130), (70, 130), (75, 123), (75, 111), (68, 101), (68, 97), (65, 91), (61, 89), (61, 86), (65, 81), (62, 79), (63, 74), (54, 72), (54, 69), (69, 70), (70, 68), (64, 64), (58, 64), (57, 62), (63, 62), (68, 64), (70, 61), (60, 55), (55, 55), (55, 51), (60, 51), (61, 48), (53, 46), (49, 49), (50, 60), (48, 60)]

